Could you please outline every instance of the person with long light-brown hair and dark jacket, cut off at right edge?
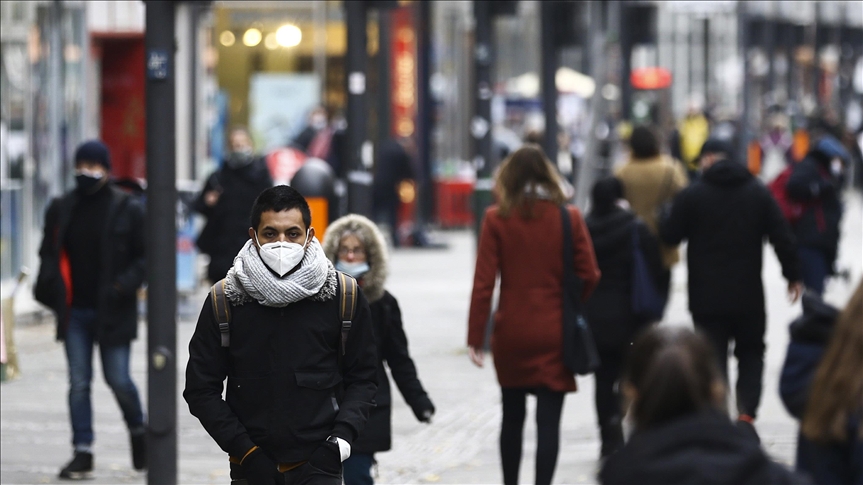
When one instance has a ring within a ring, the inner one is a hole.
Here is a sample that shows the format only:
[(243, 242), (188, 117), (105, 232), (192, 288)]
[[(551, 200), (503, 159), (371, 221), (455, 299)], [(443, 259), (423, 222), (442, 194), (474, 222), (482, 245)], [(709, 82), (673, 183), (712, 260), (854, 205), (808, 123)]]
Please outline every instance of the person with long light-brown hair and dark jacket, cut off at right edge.
[(841, 313), (818, 295), (803, 296), (779, 394), (801, 420), (797, 470), (818, 484), (863, 483), (863, 283)]

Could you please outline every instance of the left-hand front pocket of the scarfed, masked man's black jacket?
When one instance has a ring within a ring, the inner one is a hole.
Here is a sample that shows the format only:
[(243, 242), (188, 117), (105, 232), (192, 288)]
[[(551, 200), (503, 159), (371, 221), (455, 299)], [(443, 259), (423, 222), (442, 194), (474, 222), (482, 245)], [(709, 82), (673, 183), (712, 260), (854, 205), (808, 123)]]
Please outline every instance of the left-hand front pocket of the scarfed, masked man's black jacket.
[(251, 436), (267, 433), (271, 392), (269, 376), (228, 378), (226, 401)]

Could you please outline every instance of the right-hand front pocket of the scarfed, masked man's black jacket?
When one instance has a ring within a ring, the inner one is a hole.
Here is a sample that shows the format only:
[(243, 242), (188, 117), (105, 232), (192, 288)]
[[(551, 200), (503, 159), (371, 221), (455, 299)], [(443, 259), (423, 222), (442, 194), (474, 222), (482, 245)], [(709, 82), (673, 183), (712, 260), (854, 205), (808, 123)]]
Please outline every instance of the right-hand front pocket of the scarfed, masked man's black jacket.
[(291, 425), (301, 439), (317, 439), (329, 433), (338, 412), (338, 371), (297, 371), (297, 396), (292, 399)]

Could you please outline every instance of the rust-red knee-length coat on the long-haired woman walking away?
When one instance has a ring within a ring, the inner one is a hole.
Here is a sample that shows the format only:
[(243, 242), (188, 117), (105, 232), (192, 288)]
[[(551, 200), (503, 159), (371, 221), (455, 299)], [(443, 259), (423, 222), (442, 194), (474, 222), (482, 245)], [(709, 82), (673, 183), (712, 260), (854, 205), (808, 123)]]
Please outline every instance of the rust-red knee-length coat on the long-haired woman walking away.
[[(599, 282), (593, 243), (581, 213), (569, 208), (575, 273), (584, 281), (582, 299)], [(502, 217), (490, 207), (482, 224), (471, 295), (467, 343), (481, 348), (495, 278), (500, 275), (500, 303), (494, 315), (491, 350), (501, 387), (547, 387), (576, 390), (563, 365), (561, 288), (563, 231), (560, 209), (539, 200), (534, 218), (518, 209)]]

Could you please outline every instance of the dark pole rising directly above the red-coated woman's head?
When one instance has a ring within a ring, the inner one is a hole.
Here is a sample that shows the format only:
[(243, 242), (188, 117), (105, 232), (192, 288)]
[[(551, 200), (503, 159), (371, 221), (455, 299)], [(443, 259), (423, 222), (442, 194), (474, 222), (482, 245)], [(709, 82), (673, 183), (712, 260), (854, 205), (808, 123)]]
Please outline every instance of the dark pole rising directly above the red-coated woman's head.
[[(540, 4), (541, 16), (541, 55), (542, 55), (542, 109), (545, 113), (545, 133), (542, 138), (542, 148), (546, 156), (557, 164), (557, 86), (554, 83), (554, 75), (557, 72), (558, 52), (555, 45), (554, 29), (561, 23), (555, 18), (554, 4), (556, 2), (542, 2)], [(567, 25), (565, 28), (571, 28)]]

